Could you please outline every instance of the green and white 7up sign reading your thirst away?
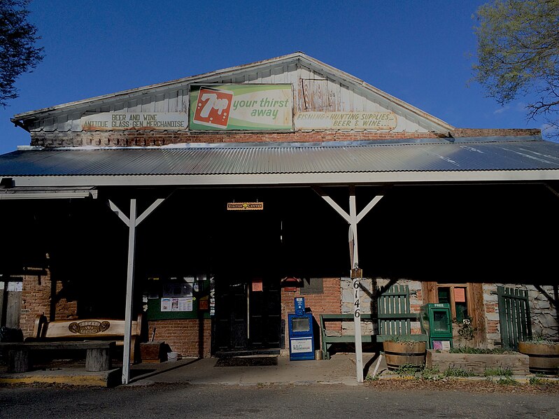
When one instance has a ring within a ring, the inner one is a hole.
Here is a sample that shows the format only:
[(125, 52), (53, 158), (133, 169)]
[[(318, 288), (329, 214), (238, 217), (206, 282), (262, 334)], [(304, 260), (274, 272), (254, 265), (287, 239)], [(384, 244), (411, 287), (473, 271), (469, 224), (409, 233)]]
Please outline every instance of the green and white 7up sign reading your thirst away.
[(189, 129), (292, 131), (292, 85), (192, 85)]

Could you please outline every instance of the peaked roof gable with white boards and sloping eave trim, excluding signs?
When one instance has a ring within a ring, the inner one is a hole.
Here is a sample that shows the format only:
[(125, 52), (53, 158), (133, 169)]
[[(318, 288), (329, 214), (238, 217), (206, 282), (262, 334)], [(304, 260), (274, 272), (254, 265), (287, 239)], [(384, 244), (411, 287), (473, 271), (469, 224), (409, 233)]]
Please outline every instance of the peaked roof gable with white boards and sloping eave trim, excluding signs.
[[(316, 101), (311, 104), (311, 111), (395, 113), (397, 118), (406, 121), (400, 128), (405, 132), (423, 130), (446, 135), (454, 129), (448, 123), (303, 52), (20, 113), (12, 120), (31, 129), (49, 131), (52, 125), (53, 131), (71, 131), (76, 130), (75, 121), (84, 114), (141, 112), (144, 108), (150, 112), (187, 112), (189, 87), (200, 83), (289, 83), (294, 86), (295, 113), (309, 111), (310, 98)], [(309, 93), (313, 89), (324, 96), (317, 100), (318, 94)]]

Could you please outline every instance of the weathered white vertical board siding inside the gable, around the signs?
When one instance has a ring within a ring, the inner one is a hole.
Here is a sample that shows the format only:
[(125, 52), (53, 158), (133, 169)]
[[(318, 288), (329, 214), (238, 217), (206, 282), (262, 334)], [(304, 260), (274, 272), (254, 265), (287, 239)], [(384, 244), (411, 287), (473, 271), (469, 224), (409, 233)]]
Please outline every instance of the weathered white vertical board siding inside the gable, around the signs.
[[(394, 112), (398, 125), (393, 132), (426, 133), (413, 115), (403, 115), (398, 106), (388, 99), (374, 96), (363, 89), (357, 91), (343, 80), (334, 80), (319, 71), (294, 63), (270, 66), (259, 71), (245, 71), (232, 77), (214, 75), (204, 79), (203, 83), (262, 83), (291, 84), (294, 92), (294, 112), (329, 111), (329, 112)], [(108, 99), (106, 104), (83, 111), (73, 111), (58, 115), (55, 118), (38, 120), (32, 127), (34, 132), (81, 132), (80, 118), (83, 115), (104, 112), (185, 112), (189, 111), (189, 86), (181, 85), (160, 89), (149, 93), (138, 94), (136, 97)]]

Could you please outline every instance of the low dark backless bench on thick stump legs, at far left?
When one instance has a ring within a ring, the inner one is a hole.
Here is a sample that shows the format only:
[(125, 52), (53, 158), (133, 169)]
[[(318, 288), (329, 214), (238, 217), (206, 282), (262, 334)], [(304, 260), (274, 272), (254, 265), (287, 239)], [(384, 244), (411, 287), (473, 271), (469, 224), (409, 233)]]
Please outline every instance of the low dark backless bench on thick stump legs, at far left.
[(85, 371), (111, 369), (111, 350), (115, 341), (83, 342), (17, 342), (0, 343), (0, 350), (8, 352), (8, 372), (27, 372), (33, 367), (32, 350), (85, 350)]

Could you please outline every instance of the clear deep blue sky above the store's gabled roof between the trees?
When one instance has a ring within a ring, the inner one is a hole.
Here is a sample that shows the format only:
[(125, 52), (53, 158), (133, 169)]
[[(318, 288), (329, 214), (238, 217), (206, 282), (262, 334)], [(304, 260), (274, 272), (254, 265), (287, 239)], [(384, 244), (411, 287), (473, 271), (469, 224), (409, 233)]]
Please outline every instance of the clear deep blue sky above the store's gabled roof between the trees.
[[(10, 118), (302, 51), (460, 128), (544, 128), (469, 83), (485, 1), (33, 0), (45, 59), (0, 108), (0, 153), (29, 145)], [(544, 134), (544, 138), (546, 138)]]

